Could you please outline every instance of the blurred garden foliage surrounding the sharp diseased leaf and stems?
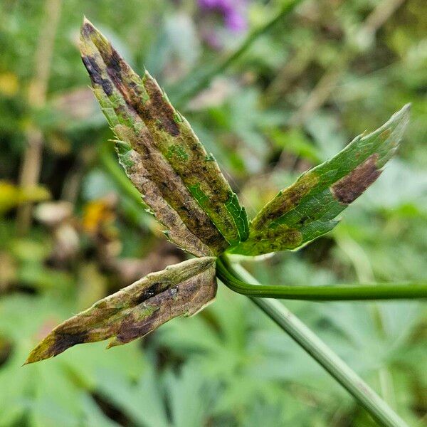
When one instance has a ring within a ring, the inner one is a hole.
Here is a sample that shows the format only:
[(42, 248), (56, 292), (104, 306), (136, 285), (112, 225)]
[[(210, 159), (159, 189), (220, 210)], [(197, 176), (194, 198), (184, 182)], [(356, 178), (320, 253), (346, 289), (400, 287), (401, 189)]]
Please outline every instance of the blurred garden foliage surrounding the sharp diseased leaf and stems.
[[(245, 266), (263, 283), (427, 279), (426, 1), (302, 1), (218, 67), (283, 4), (1, 0), (0, 426), (373, 425), (222, 285), (204, 312), (147, 338), (109, 351), (76, 346), (21, 368), (58, 322), (186, 258), (115, 159), (78, 53), (83, 14), (167, 89), (250, 216), (412, 102), (398, 158), (332, 233)], [(408, 424), (426, 425), (426, 305), (286, 304)]]

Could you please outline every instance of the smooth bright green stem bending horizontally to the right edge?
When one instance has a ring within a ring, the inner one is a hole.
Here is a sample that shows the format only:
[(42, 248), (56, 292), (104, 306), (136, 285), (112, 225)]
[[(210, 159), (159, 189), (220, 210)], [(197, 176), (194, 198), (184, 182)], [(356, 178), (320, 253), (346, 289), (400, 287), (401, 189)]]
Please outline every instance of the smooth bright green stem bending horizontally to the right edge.
[(218, 259), (218, 278), (234, 292), (251, 297), (283, 298), (285, 300), (354, 301), (354, 300), (408, 300), (427, 298), (426, 283), (330, 286), (255, 285), (243, 282), (230, 273), (226, 258)]

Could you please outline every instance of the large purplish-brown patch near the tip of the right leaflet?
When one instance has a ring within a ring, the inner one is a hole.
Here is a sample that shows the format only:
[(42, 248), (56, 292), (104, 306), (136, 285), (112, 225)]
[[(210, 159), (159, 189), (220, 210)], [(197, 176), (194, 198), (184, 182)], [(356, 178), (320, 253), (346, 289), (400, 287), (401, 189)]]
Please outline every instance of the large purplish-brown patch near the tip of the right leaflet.
[(351, 204), (356, 200), (381, 174), (376, 167), (377, 160), (378, 154), (372, 154), (347, 176), (334, 184), (331, 187), (334, 197), (342, 204)]

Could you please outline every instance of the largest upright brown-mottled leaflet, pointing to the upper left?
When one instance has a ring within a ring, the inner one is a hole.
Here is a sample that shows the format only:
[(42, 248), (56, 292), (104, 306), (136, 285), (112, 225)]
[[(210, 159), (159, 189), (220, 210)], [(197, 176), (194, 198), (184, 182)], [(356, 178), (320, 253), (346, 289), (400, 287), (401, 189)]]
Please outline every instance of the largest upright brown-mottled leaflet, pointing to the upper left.
[(196, 256), (246, 240), (245, 209), (156, 80), (140, 78), (87, 20), (80, 50), (120, 163), (169, 239)]

